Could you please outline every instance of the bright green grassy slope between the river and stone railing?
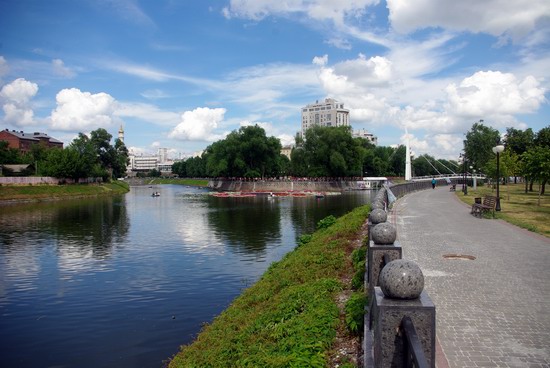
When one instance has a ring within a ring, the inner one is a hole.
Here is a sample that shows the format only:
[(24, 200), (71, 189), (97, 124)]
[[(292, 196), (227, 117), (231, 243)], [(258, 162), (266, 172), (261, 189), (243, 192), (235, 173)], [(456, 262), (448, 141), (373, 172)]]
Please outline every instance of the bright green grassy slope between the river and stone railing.
[[(365, 292), (352, 293), (351, 284), (363, 283), (357, 275), (364, 274), (368, 212), (359, 207), (327, 228), (320, 221), (319, 230), (302, 236), (169, 367), (326, 367), (329, 361), (355, 367), (337, 356), (335, 344), (337, 335), (349, 339), (350, 330), (362, 331)], [(345, 307), (338, 302), (348, 297)]]

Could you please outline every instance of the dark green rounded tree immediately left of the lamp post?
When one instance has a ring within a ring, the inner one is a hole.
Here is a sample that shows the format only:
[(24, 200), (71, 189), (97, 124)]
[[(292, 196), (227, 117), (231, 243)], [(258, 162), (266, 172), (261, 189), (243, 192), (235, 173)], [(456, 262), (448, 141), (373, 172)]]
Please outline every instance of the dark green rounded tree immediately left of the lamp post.
[(485, 169), (488, 162), (494, 160), (493, 147), (500, 141), (498, 130), (474, 123), (464, 140), (464, 152), (468, 165)]

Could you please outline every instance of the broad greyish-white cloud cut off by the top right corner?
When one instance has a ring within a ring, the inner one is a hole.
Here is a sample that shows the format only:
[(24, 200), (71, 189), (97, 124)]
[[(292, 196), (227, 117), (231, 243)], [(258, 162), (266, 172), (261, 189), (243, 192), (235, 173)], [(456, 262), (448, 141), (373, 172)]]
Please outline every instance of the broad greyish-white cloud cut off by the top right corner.
[(538, 21), (548, 19), (547, 0), (388, 0), (392, 27), (401, 33), (442, 27), (456, 31), (484, 32), (494, 36), (525, 36)]

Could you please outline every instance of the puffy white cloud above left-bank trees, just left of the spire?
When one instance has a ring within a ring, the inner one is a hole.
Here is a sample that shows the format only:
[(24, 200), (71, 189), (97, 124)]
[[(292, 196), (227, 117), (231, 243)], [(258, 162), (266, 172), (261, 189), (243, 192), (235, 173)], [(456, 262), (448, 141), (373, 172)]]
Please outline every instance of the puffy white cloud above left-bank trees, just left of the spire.
[(51, 114), (54, 129), (82, 131), (114, 123), (116, 101), (107, 93), (91, 94), (70, 88), (59, 91), (55, 99), (57, 107)]

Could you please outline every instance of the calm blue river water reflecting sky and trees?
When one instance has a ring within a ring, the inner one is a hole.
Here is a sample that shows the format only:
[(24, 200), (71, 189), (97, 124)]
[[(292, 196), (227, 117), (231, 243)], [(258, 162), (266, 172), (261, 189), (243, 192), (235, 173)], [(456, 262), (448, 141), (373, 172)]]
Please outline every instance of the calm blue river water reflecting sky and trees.
[(0, 367), (161, 367), (297, 236), (373, 194), (216, 198), (163, 185), (2, 206)]

